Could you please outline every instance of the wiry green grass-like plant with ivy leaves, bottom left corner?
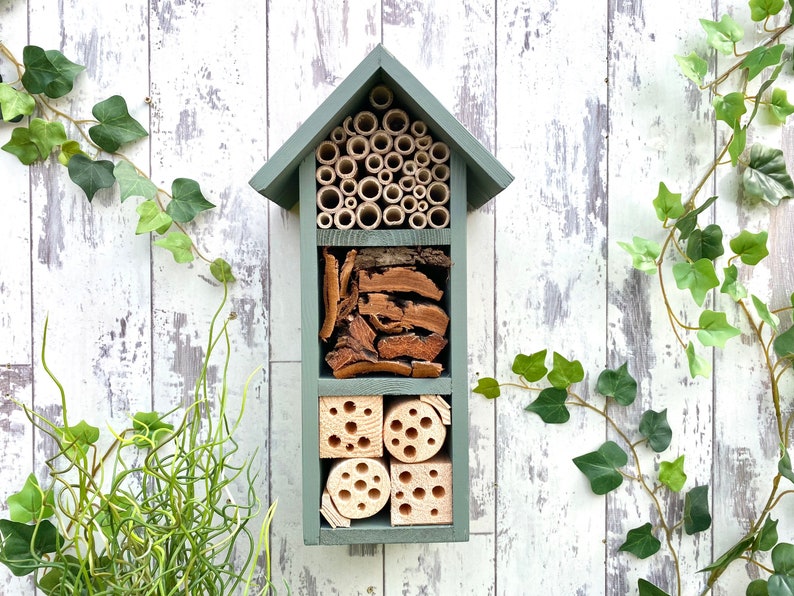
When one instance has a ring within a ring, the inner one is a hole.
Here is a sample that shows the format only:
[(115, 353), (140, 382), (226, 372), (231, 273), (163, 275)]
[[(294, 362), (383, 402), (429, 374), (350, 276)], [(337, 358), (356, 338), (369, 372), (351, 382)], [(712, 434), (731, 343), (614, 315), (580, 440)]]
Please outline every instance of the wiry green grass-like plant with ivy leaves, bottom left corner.
[[(48, 596), (275, 592), (268, 536), (276, 503), (253, 534), (249, 525), (261, 512), (256, 474), (235, 438), (253, 373), (233, 413), (228, 325), (235, 316), (221, 321), (225, 288), (191, 403), (135, 413), (105, 440), (99, 428), (71, 419), (65, 389), (47, 366), (45, 323), (42, 366), (58, 389), (62, 420), (19, 404), (55, 449), (49, 478), (31, 474), (8, 498), (9, 519), (0, 520), (0, 562), (14, 575), (33, 575)], [(208, 371), (219, 350), (216, 392)], [(262, 550), (265, 579), (257, 587)]]

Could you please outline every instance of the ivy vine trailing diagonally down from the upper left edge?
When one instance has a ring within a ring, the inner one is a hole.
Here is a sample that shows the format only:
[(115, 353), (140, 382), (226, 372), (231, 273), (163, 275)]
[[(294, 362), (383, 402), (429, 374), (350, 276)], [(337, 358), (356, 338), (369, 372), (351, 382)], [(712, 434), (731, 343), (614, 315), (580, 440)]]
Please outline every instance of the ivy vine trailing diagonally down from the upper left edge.
[[(126, 100), (113, 95), (97, 103), (84, 119), (63, 111), (56, 100), (66, 96), (85, 70), (58, 50), (26, 46), (22, 60), (0, 42), (0, 56), (16, 70), (17, 79), (0, 78), (0, 121), (18, 123), (11, 139), (0, 149), (16, 156), (24, 165), (48, 161), (56, 156), (69, 178), (85, 193), (89, 203), (102, 189), (118, 186), (124, 202), (142, 199), (136, 207), (136, 234), (154, 233), (154, 244), (169, 250), (177, 263), (196, 258), (209, 265), (220, 282), (234, 281), (230, 265), (221, 258), (205, 256), (188, 235), (186, 224), (203, 211), (215, 207), (190, 178), (176, 178), (170, 191), (158, 187), (121, 148), (148, 135), (133, 118)], [(104, 159), (110, 157), (111, 159)]]

